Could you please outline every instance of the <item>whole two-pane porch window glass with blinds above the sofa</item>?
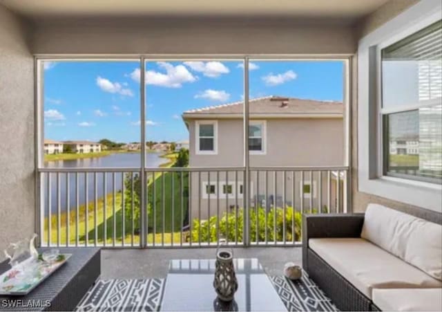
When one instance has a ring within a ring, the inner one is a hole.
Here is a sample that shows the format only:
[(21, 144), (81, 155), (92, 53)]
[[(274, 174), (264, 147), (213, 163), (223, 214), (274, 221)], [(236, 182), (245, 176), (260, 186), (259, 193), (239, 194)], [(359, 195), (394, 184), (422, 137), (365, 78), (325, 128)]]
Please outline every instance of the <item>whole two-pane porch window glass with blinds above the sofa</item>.
[(442, 183), (441, 47), (437, 21), (381, 50), (387, 176)]

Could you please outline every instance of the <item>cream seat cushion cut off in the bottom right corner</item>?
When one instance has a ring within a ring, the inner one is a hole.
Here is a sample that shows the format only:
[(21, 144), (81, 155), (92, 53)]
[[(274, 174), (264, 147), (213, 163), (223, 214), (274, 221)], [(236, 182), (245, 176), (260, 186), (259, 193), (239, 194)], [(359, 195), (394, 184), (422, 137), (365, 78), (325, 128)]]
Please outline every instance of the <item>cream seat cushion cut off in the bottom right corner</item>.
[(373, 289), (382, 311), (442, 311), (442, 288)]

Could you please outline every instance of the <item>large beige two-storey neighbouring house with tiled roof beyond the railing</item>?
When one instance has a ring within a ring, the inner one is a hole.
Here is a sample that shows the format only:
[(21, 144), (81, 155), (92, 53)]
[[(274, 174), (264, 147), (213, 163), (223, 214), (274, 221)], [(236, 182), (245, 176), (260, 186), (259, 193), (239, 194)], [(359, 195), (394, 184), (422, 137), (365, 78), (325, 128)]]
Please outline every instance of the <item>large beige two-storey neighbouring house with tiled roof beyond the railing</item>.
[[(249, 100), (249, 116), (251, 167), (343, 165), (345, 122), (342, 103), (271, 96)], [(237, 167), (244, 164), (242, 102), (185, 111), (183, 120), (189, 129), (191, 167)], [(241, 206), (243, 177), (242, 172), (237, 173), (211, 172), (210, 176), (207, 172), (202, 172), (201, 176), (193, 173), (190, 187), (192, 215), (204, 219), (209, 217), (209, 209), (212, 215), (218, 205), (221, 208)], [(336, 201), (337, 174), (331, 174), (330, 185), (327, 185), (326, 174), (320, 179), (315, 174), (311, 180), (309, 172), (305, 172), (304, 178), (299, 172), (294, 178), (287, 174), (287, 190), (282, 190), (284, 177), (281, 173), (276, 177), (276, 183), (271, 180), (272, 176), (265, 182), (263, 174), (257, 179), (252, 173), (251, 178), (251, 205), (282, 207), (285, 202), (300, 208), (303, 196), (302, 204), (307, 207), (311, 195), (314, 208), (318, 208), (318, 192), (322, 192), (325, 198), (327, 187), (332, 190), (331, 201)], [(345, 176), (339, 178), (342, 183)], [(344, 187), (340, 186), (342, 197)]]

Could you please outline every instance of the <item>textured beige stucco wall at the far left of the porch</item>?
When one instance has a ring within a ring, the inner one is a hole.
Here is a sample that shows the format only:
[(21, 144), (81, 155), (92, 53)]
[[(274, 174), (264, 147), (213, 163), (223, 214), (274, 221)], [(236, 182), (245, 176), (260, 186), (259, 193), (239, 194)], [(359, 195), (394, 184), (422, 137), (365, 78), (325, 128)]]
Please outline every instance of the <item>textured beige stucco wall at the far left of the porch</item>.
[(0, 6), (0, 250), (35, 228), (33, 80), (26, 27)]

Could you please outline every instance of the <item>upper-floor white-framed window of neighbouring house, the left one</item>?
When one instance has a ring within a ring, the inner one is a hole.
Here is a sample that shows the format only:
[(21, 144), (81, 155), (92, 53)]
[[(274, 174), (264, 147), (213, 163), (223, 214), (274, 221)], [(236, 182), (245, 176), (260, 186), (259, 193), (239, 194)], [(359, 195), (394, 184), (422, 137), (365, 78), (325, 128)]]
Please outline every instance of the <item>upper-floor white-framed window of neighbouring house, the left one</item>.
[(196, 154), (217, 154), (218, 122), (196, 122)]

